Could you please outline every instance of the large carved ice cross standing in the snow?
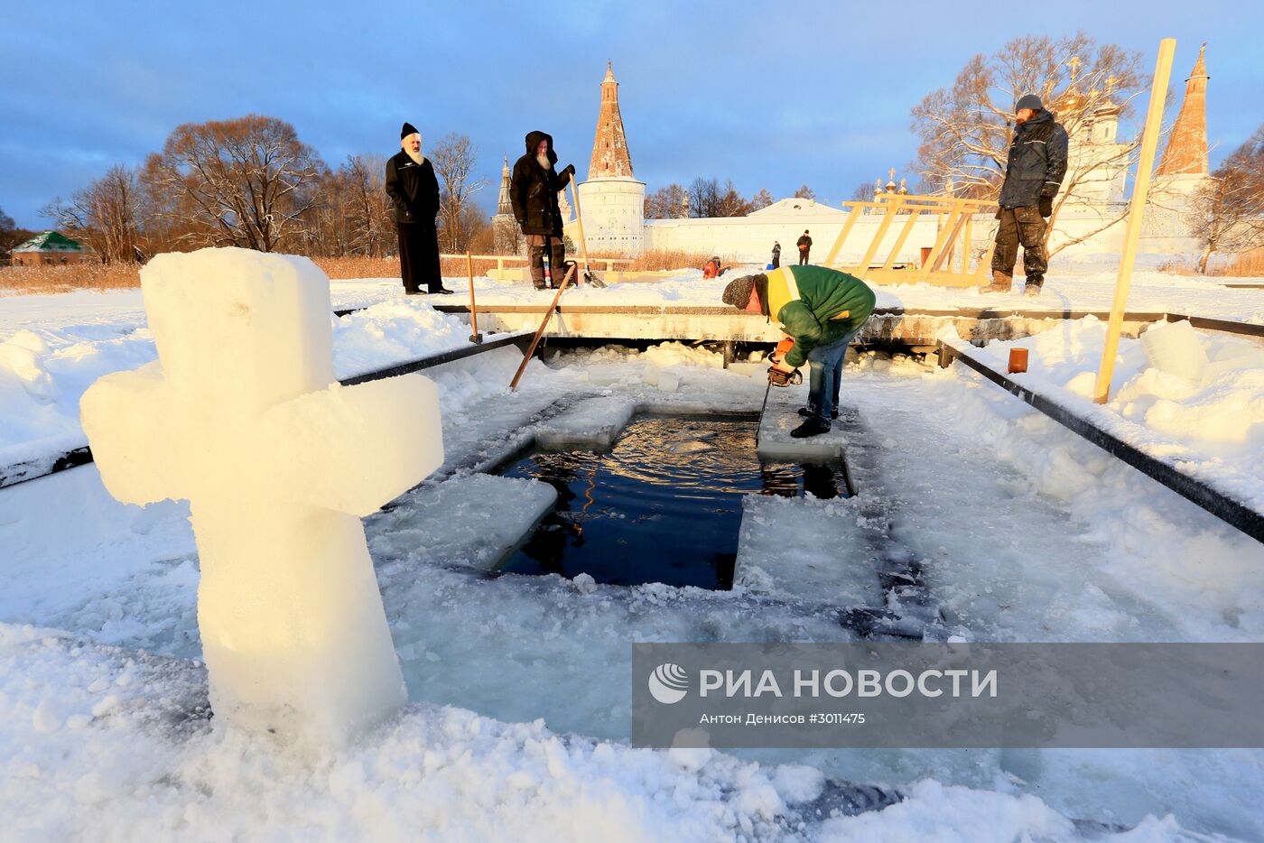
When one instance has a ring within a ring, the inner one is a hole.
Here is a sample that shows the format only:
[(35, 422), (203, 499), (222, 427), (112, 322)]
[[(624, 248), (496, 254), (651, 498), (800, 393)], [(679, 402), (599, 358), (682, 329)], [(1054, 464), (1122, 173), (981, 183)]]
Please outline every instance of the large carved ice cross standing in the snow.
[(140, 277), (159, 359), (80, 406), (101, 479), (190, 502), (215, 715), (341, 743), (404, 700), (360, 516), (442, 463), (437, 388), (339, 385), (329, 279), (306, 258), (202, 249)]

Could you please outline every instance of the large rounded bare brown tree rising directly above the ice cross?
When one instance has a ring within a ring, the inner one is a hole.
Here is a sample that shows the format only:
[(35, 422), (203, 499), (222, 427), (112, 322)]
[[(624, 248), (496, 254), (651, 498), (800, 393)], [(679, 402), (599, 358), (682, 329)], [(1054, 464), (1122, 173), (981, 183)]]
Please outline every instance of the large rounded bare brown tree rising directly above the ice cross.
[(297, 233), (325, 171), (292, 125), (257, 114), (177, 126), (152, 167), (154, 186), (185, 200), (172, 207), (181, 240), (259, 252)]

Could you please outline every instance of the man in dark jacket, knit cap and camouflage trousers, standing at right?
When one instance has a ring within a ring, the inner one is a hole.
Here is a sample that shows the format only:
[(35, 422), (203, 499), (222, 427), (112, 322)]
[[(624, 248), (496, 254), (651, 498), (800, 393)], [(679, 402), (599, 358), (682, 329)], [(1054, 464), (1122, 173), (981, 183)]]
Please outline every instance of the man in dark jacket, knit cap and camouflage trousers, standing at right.
[(1023, 270), (1028, 296), (1039, 296), (1049, 258), (1044, 248), (1045, 220), (1053, 215), (1053, 200), (1067, 174), (1067, 130), (1053, 119), (1035, 94), (1015, 104), (1018, 129), (1010, 143), (1005, 183), (996, 202), (996, 249), (992, 252), (992, 283), (985, 293), (1007, 293), (1014, 283), (1014, 263), (1023, 244)]

